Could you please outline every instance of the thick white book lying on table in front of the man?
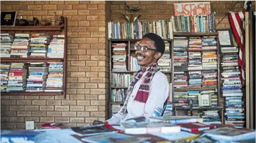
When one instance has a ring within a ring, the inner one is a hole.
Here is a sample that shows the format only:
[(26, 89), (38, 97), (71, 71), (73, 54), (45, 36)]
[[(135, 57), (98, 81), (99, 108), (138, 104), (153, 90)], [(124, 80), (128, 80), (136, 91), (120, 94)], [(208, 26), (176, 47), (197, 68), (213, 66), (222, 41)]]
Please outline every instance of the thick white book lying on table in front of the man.
[(147, 134), (147, 133), (177, 133), (180, 132), (180, 126), (170, 123), (156, 122), (138, 122), (138, 123), (121, 123), (121, 129), (126, 134)]

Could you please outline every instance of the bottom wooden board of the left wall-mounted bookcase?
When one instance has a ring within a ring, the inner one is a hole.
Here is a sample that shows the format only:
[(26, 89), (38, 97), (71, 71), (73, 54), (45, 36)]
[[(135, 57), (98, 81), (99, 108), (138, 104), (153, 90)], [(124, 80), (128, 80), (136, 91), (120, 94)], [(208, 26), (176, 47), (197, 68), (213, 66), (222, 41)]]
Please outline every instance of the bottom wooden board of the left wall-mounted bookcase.
[(63, 95), (64, 92), (1, 92), (1, 95), (44, 95), (44, 96), (51, 96), (51, 95)]

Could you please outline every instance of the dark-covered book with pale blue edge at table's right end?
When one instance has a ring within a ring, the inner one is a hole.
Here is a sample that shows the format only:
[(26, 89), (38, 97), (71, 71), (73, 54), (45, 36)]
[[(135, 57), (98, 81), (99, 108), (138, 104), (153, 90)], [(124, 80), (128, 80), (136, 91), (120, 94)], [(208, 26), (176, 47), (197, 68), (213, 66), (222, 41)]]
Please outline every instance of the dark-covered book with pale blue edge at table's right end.
[(204, 131), (209, 137), (217, 138), (218, 140), (249, 140), (255, 138), (255, 131), (248, 129), (236, 129), (231, 127), (220, 127), (213, 130)]

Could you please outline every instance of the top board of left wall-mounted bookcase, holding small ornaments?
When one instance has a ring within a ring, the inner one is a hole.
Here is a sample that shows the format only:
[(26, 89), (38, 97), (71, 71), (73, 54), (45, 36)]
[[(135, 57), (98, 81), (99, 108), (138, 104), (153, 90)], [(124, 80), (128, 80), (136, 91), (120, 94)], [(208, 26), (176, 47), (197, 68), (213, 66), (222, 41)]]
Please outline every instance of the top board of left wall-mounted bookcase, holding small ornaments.
[(1, 31), (61, 31), (64, 26), (1, 26)]

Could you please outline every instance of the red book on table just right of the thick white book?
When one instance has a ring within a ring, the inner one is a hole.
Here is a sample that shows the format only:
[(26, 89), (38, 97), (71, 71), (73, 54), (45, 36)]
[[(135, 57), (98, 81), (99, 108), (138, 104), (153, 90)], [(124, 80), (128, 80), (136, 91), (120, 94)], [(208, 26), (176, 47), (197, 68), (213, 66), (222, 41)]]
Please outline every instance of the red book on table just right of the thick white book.
[(190, 132), (197, 132), (197, 131), (210, 130), (210, 129), (216, 128), (216, 126), (214, 125), (206, 125), (199, 122), (179, 123), (177, 125), (180, 126), (181, 130), (190, 131)]

